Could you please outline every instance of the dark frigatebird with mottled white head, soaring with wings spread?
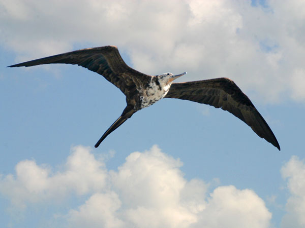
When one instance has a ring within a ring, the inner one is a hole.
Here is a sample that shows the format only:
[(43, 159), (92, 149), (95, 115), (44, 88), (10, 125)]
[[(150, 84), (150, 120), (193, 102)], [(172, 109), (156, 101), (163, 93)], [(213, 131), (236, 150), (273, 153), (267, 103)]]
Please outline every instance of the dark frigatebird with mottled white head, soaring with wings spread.
[(124, 62), (115, 46), (86, 48), (8, 67), (50, 63), (77, 64), (97, 72), (126, 95), (127, 106), (123, 113), (103, 134), (95, 147), (138, 110), (162, 98), (177, 98), (221, 107), (231, 112), (248, 124), (259, 137), (280, 150), (278, 140), (251, 100), (228, 78), (173, 83), (175, 79), (187, 73), (163, 73), (156, 76), (141, 73)]

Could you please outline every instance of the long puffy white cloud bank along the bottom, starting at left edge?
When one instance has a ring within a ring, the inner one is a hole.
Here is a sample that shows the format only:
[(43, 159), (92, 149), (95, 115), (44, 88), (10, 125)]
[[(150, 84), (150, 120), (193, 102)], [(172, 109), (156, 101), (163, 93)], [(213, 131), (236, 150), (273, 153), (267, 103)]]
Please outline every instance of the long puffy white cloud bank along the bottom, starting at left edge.
[[(209, 184), (186, 180), (181, 166), (179, 159), (155, 145), (143, 153), (131, 153), (117, 171), (107, 171), (89, 147), (75, 146), (64, 171), (52, 173), (46, 165), (19, 162), (15, 175), (0, 179), (0, 193), (11, 200), (11, 211), (54, 202), (65, 205), (66, 213), (53, 211), (53, 221), (48, 221), (56, 226), (269, 226), (271, 213), (254, 191), (219, 186), (209, 194)], [(88, 199), (80, 201), (84, 196)], [(80, 202), (76, 208), (68, 200), (75, 198)]]

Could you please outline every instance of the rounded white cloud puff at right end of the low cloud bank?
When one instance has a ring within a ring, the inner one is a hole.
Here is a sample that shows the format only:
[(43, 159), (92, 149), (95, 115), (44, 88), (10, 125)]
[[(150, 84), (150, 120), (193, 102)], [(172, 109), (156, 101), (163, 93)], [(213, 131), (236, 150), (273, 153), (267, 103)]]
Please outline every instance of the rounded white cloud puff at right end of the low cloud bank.
[(211, 193), (196, 227), (269, 227), (271, 213), (250, 189), (220, 186)]

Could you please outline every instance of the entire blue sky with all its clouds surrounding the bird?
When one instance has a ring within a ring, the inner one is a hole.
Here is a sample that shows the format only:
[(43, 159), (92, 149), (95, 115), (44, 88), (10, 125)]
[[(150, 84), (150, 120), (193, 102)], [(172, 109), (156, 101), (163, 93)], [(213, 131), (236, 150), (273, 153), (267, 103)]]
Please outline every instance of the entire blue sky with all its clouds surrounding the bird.
[[(4, 227), (304, 227), (305, 3), (0, 0)], [(222, 109), (163, 99), (95, 143), (125, 108), (73, 65), (6, 68), (115, 45), (150, 75), (227, 77), (281, 151)]]

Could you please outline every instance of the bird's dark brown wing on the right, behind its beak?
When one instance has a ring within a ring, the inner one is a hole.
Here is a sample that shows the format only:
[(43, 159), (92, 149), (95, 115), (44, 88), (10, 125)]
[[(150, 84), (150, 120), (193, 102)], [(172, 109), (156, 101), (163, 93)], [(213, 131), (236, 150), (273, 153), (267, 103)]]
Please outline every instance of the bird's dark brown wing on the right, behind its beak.
[(266, 139), (280, 150), (278, 140), (264, 118), (247, 95), (230, 79), (219, 78), (173, 83), (165, 97), (191, 100), (216, 108), (221, 107), (248, 124), (258, 136)]

